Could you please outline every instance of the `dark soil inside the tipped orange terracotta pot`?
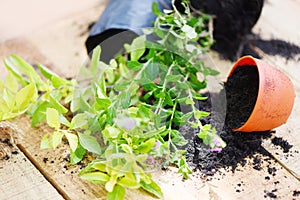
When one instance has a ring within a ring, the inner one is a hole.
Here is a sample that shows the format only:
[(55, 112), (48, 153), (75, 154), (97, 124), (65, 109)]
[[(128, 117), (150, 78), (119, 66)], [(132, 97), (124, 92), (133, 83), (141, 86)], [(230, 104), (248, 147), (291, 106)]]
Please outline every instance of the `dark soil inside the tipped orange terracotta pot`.
[(226, 125), (239, 128), (250, 117), (256, 103), (259, 87), (255, 66), (240, 66), (224, 84), (227, 100)]

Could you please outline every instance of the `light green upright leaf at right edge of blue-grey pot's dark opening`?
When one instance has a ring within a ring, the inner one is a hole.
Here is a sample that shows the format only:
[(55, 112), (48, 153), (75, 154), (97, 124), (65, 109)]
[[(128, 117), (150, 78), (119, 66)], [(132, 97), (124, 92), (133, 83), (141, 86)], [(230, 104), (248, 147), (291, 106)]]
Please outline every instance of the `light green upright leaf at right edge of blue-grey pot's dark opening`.
[(130, 58), (132, 61), (138, 61), (140, 57), (144, 54), (146, 50), (146, 36), (139, 36), (135, 38), (132, 43), (131, 43), (131, 53), (130, 53)]

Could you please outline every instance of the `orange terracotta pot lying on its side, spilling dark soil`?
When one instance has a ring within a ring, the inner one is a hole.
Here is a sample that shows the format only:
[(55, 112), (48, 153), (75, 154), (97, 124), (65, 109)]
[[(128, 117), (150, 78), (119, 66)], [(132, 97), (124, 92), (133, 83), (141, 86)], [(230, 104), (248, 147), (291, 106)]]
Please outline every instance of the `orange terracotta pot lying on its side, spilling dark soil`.
[(295, 91), (291, 80), (278, 69), (252, 56), (240, 58), (231, 69), (243, 65), (256, 66), (259, 75), (259, 88), (254, 109), (245, 122), (233, 131), (256, 132), (276, 128), (286, 123), (292, 112)]

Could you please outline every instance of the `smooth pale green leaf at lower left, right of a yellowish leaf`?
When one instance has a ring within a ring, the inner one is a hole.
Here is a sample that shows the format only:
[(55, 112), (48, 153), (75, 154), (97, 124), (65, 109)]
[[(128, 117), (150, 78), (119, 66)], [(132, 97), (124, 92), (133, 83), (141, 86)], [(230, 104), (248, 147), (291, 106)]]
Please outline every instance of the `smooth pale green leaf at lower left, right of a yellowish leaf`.
[(78, 136), (79, 142), (83, 148), (89, 152), (101, 155), (102, 150), (95, 137), (83, 133), (78, 133)]

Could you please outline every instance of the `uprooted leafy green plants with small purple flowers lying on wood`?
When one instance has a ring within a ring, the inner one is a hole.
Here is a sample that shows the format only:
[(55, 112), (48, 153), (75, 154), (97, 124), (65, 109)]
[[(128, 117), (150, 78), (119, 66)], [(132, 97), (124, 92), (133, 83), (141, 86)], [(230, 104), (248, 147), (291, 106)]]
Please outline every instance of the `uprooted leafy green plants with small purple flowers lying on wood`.
[[(6, 59), (9, 73), (6, 86), (0, 82), (0, 119), (27, 112), (32, 126), (46, 121), (54, 132), (43, 137), (41, 148), (56, 148), (65, 137), (72, 164), (87, 151), (93, 153), (95, 160), (79, 175), (105, 184), (108, 199), (123, 199), (126, 188), (143, 188), (163, 198), (150, 166), (175, 164), (184, 178), (191, 173), (180, 148), (187, 141), (178, 127), (190, 124), (199, 129), (198, 136), (213, 150), (225, 146), (211, 125), (201, 124), (209, 113), (195, 103), (206, 99), (199, 94), (206, 77), (218, 74), (199, 58), (213, 41), (207, 27), (210, 17), (194, 17), (187, 3), (183, 5), (185, 14), (175, 7), (161, 13), (153, 4), (154, 28), (126, 44), (126, 52), (109, 64), (99, 61), (97, 47), (77, 81), (39, 65), (41, 77), (21, 58)], [(149, 34), (156, 35), (157, 42), (147, 41)], [(70, 113), (72, 118), (67, 117)]]

